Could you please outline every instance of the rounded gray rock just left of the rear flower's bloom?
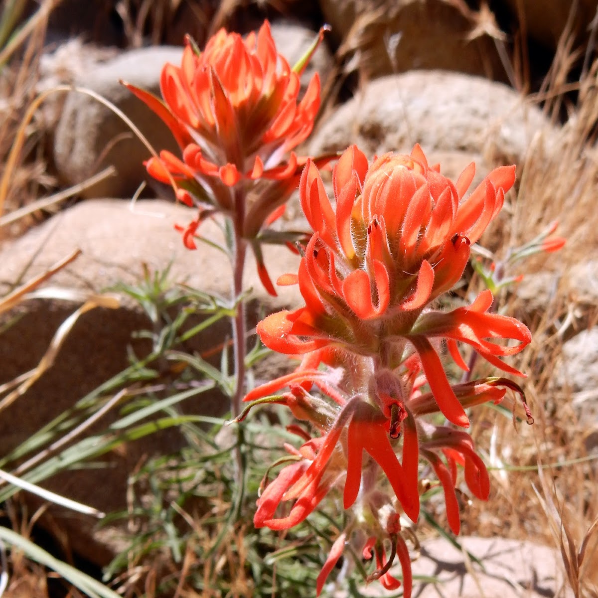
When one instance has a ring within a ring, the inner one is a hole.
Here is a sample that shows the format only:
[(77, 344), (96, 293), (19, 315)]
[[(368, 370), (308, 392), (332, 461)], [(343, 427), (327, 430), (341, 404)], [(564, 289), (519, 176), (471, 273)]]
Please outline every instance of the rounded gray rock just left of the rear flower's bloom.
[[(78, 75), (74, 84), (89, 88), (114, 103), (139, 127), (157, 150), (176, 151), (166, 125), (118, 81), (126, 80), (160, 95), (160, 72), (166, 62), (180, 63), (181, 48), (131, 50)], [(143, 161), (149, 151), (126, 123), (107, 106), (86, 94), (68, 94), (54, 136), (54, 162), (67, 184), (77, 184), (112, 164), (117, 174), (83, 192), (84, 197), (132, 196), (149, 180)]]

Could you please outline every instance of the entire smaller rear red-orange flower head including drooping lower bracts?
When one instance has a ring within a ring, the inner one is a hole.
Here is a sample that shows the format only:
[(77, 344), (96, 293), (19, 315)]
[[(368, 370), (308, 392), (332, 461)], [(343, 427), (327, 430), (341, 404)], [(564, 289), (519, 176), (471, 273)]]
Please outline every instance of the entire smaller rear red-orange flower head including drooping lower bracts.
[[(230, 216), (236, 233), (251, 242), (261, 279), (272, 294), (257, 237), (282, 214), (306, 162), (292, 150), (312, 132), (320, 82), (316, 73), (299, 99), (300, 75), (323, 34), (324, 28), (291, 68), (277, 51), (267, 21), (245, 39), (221, 29), (203, 51), (188, 38), (181, 65), (164, 66), (163, 101), (124, 83), (164, 121), (179, 145), (179, 155), (162, 150), (146, 166), (152, 177), (173, 185), (181, 202), (199, 210), (189, 225), (177, 227), (185, 246), (196, 248), (203, 219), (215, 213)], [(316, 161), (323, 164), (332, 157)]]

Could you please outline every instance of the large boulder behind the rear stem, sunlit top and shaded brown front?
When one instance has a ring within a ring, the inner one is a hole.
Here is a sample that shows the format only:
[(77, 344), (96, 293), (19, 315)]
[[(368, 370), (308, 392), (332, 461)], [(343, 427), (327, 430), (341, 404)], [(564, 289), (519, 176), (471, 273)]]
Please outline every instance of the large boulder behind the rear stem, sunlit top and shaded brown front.
[[(17, 280), (43, 273), (73, 249), (83, 251), (78, 260), (51, 280), (51, 286), (78, 291), (99, 292), (124, 282), (135, 285), (142, 277), (142, 264), (150, 271), (163, 271), (170, 265), (173, 283), (187, 283), (194, 288), (230, 296), (230, 266), (224, 255), (212, 246), (199, 243), (197, 251), (185, 249), (173, 224), (186, 224), (195, 211), (160, 200), (140, 201), (135, 209), (123, 200), (89, 200), (59, 213), (38, 228), (0, 251), (0, 294), (13, 288)], [(221, 229), (205, 222), (200, 229), (209, 239), (222, 241)], [(264, 249), (267, 267), (275, 280), (279, 274), (297, 269), (298, 258), (275, 246)], [(259, 282), (252, 257), (246, 264), (245, 288), (254, 288), (256, 304), (266, 309), (297, 305), (295, 287), (280, 289), (279, 297), (270, 300)], [(25, 301), (19, 319), (0, 335), (0, 385), (35, 367), (44, 355), (51, 338), (63, 321), (75, 310), (65, 301)], [(9, 316), (12, 318), (14, 313)], [(249, 325), (255, 325), (257, 309), (249, 309)], [(253, 318), (253, 319), (251, 319)], [(5, 324), (6, 319), (2, 322)], [(117, 310), (94, 309), (84, 314), (66, 338), (54, 365), (2, 411), (0, 418), (0, 454), (7, 455), (34, 432), (64, 413), (86, 393), (96, 389), (127, 365), (127, 347), (138, 356), (150, 347), (147, 340), (132, 340), (132, 333), (152, 329), (152, 322), (132, 301), (124, 301)], [(222, 321), (210, 327), (184, 350), (202, 352), (230, 338), (230, 324)], [(218, 358), (218, 356), (216, 356)], [(219, 367), (219, 358), (215, 362)], [(283, 367), (288, 364), (281, 364)], [(220, 393), (203, 393), (181, 405), (186, 413), (222, 415), (228, 401)], [(105, 428), (118, 407), (103, 417), (86, 435)], [(152, 434), (102, 457), (106, 469), (78, 469), (44, 481), (42, 485), (68, 498), (91, 505), (103, 512), (126, 508), (127, 479), (144, 456), (170, 454), (181, 447), (176, 432)], [(103, 536), (93, 531), (94, 521), (72, 512), (57, 512), (56, 521), (69, 533), (69, 544), (98, 565), (114, 557), (118, 545), (114, 533)]]

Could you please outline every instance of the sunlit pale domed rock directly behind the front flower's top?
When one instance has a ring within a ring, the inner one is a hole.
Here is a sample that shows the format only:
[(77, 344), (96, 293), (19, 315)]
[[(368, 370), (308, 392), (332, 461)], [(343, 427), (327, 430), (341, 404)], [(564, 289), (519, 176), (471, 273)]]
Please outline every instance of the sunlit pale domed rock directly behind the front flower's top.
[(367, 154), (466, 152), (489, 163), (521, 162), (536, 135), (554, 130), (535, 106), (501, 83), (447, 71), (411, 71), (370, 81), (338, 106), (310, 142), (310, 152), (355, 143)]

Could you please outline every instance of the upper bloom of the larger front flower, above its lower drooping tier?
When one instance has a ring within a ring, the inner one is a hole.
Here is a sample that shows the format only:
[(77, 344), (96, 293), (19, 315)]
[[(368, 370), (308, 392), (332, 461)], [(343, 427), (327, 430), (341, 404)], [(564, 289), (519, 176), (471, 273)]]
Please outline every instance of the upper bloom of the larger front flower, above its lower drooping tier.
[[(391, 369), (415, 351), (440, 410), (467, 426), (435, 341), (446, 341), (460, 367), (466, 365), (457, 343), (465, 343), (517, 374), (498, 357), (519, 352), (531, 340), (523, 324), (489, 312), (489, 291), (449, 313), (425, 311), (459, 280), (469, 246), (501, 209), (515, 176), (514, 167), (495, 169), (463, 199), (474, 173), (469, 166), (453, 184), (428, 166), (419, 146), (408, 156), (385, 154), (368, 169), (364, 154), (353, 146), (334, 167), (333, 210), (318, 169), (308, 160), (299, 190), (315, 232), (298, 275), (283, 280), (298, 283), (306, 306), (260, 322), (264, 344), (291, 355), (338, 346), (376, 357)], [(502, 346), (496, 342), (501, 339), (518, 344)]]

